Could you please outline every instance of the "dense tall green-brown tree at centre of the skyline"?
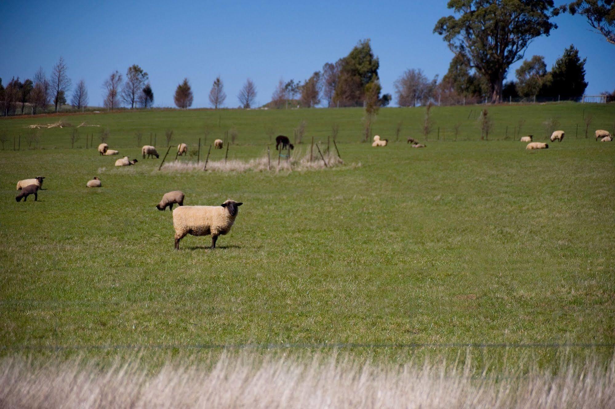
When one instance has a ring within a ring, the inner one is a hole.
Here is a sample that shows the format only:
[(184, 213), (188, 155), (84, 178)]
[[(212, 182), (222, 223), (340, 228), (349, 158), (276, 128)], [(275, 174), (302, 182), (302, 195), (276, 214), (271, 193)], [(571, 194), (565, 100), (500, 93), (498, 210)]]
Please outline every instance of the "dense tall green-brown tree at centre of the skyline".
[(378, 79), (378, 57), (374, 57), (370, 39), (359, 41), (343, 58), (333, 102), (341, 106), (360, 106), (365, 101), (367, 84)]

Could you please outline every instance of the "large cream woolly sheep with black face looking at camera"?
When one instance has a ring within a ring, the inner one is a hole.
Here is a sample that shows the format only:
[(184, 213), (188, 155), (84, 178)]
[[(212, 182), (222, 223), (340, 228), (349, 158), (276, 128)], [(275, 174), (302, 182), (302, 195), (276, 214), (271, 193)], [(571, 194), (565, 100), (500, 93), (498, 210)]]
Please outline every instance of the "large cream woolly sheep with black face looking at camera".
[(239, 206), (227, 200), (220, 206), (181, 206), (173, 210), (173, 228), (175, 228), (175, 250), (180, 249), (180, 240), (186, 234), (192, 236), (212, 236), (212, 248), (220, 234), (227, 234), (239, 212)]

